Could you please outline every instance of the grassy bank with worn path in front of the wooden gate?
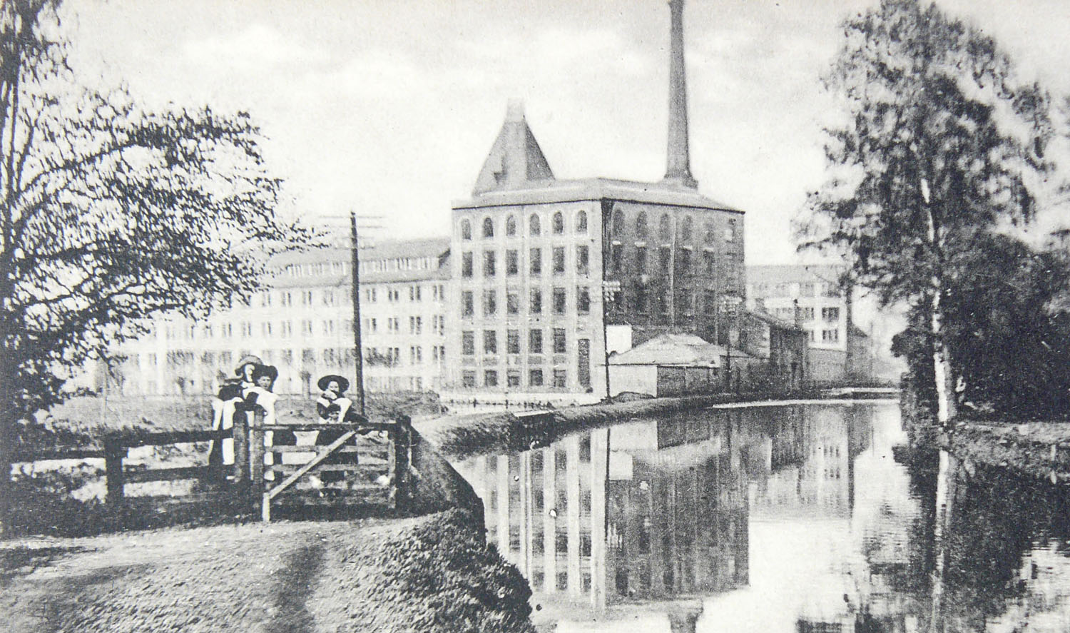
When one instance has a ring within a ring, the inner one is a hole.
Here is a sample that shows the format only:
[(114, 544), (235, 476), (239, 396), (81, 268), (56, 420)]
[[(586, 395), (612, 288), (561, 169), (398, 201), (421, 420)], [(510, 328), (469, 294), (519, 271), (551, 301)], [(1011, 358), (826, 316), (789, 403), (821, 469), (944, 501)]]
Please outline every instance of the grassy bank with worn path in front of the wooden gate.
[(13, 633), (529, 632), (530, 589), (463, 511), (9, 542)]

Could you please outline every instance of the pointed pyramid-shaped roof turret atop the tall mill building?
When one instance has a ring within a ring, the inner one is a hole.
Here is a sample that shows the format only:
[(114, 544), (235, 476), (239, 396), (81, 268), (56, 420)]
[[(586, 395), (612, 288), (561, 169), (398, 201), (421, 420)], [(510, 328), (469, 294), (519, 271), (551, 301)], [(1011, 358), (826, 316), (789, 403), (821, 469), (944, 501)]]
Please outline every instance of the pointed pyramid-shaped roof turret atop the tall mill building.
[(505, 123), (475, 180), (473, 195), (522, 189), (533, 180), (553, 180), (553, 171), (535, 140), (520, 101), (510, 101)]

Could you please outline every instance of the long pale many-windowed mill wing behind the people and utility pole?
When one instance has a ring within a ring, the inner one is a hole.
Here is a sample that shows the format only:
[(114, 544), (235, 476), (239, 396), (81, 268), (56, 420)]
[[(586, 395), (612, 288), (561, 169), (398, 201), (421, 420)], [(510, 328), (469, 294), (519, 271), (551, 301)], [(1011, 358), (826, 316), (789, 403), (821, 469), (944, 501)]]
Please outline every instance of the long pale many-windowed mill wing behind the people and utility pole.
[[(351, 251), (289, 253), (246, 305), (190, 321), (166, 317), (126, 343), (113, 371), (124, 393), (212, 393), (243, 355), (276, 365), (279, 393), (310, 393), (328, 373), (355, 375)], [(361, 248), (361, 325), (369, 391), (437, 389), (445, 363), (449, 240)]]

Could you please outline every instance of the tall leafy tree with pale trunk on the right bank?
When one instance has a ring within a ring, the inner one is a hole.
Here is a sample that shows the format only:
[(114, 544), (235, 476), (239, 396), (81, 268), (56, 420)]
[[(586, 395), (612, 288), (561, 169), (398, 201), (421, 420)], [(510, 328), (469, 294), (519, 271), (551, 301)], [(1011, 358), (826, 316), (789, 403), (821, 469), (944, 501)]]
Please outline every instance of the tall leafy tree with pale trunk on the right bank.
[(1051, 169), (1049, 97), (1015, 79), (991, 37), (932, 4), (882, 0), (843, 30), (825, 85), (845, 117), (826, 130), (830, 174), (809, 196), (800, 247), (846, 253), (850, 274), (884, 304), (924, 315), (946, 426), (957, 411), (949, 284), (979, 240), (1033, 216)]

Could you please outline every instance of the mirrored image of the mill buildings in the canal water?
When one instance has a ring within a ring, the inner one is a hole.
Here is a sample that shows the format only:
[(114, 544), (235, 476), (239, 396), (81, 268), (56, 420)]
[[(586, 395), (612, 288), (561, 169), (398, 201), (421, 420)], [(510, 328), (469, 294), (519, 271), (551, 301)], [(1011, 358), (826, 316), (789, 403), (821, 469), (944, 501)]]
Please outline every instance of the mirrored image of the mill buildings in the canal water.
[(621, 424), (459, 467), (484, 499), (489, 542), (537, 602), (645, 606), (688, 631), (702, 597), (749, 584), (750, 521), (845, 518), (853, 506), (852, 456), (868, 437), (842, 415), (780, 413)]

